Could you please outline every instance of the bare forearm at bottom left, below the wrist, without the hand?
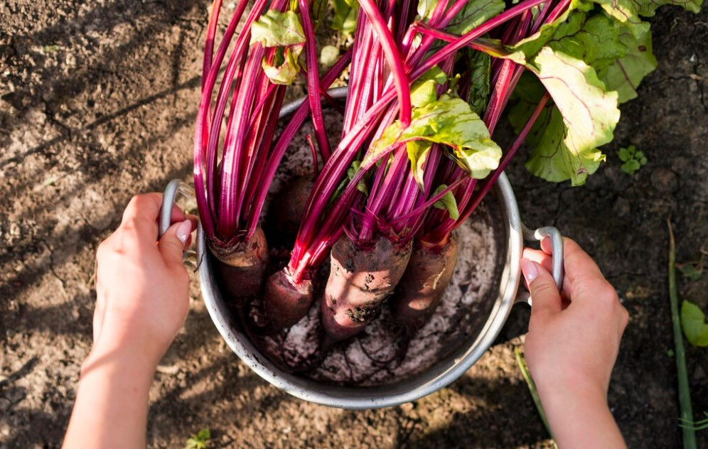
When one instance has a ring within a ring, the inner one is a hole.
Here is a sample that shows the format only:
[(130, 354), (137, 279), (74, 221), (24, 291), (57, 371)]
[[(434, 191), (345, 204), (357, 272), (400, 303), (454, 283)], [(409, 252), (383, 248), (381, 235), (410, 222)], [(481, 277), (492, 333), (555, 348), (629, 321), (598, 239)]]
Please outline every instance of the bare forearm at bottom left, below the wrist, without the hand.
[(154, 366), (118, 350), (82, 367), (64, 448), (144, 448)]

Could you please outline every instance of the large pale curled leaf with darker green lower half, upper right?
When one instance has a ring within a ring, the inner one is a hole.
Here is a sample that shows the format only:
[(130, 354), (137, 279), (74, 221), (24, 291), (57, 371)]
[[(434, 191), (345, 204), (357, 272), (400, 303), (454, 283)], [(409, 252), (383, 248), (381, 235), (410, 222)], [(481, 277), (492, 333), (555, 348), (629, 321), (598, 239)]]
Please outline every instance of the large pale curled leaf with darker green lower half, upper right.
[(582, 185), (605, 160), (597, 147), (613, 138), (620, 117), (617, 92), (605, 92), (592, 67), (550, 47), (542, 48), (527, 67), (555, 107), (539, 118), (530, 133), (535, 148), (526, 166), (546, 180)]

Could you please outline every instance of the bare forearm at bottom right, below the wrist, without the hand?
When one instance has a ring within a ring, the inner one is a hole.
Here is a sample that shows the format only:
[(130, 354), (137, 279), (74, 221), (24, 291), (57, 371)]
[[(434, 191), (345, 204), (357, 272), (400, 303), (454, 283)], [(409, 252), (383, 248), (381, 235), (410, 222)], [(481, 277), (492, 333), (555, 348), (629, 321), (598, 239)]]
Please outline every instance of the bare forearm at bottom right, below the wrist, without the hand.
[(626, 448), (604, 391), (556, 384), (539, 396), (559, 448)]

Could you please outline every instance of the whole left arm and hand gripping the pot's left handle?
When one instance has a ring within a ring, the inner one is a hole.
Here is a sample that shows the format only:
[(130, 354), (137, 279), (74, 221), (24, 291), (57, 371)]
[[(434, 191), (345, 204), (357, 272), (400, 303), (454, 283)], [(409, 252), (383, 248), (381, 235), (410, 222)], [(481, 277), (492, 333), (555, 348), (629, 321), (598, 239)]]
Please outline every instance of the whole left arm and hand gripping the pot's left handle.
[(64, 448), (144, 448), (157, 364), (189, 309), (182, 251), (196, 217), (174, 208), (157, 242), (162, 195), (134, 197), (96, 254), (93, 347), (81, 367)]

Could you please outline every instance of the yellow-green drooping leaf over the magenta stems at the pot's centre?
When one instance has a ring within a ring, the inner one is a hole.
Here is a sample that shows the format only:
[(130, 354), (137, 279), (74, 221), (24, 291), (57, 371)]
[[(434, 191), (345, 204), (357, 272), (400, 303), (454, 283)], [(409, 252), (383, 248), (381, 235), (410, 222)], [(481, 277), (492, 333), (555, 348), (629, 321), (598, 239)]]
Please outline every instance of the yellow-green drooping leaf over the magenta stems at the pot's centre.
[(409, 141), (429, 141), (451, 147), (451, 158), (472, 178), (484, 178), (497, 168), (501, 148), (490, 139), (482, 119), (463, 99), (444, 94), (436, 102), (413, 109), (412, 121), (401, 129), (399, 121), (388, 126), (367, 151), (362, 165), (368, 165), (392, 146)]

